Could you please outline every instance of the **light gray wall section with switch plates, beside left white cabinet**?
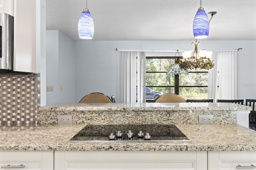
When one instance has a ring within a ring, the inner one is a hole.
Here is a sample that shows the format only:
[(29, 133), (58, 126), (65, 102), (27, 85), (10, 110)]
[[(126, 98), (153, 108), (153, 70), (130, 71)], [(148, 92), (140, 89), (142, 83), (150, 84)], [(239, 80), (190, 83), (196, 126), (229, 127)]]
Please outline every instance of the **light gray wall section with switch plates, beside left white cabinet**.
[(46, 92), (46, 105), (75, 102), (74, 49), (74, 41), (61, 31), (46, 31), (46, 86), (54, 86)]

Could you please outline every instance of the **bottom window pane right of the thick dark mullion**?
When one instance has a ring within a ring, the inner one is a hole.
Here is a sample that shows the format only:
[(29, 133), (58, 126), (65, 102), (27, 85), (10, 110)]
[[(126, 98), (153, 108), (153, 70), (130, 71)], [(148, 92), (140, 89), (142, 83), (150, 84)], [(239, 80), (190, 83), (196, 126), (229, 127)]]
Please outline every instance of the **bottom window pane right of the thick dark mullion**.
[(208, 87), (180, 87), (180, 96), (187, 99), (208, 99)]

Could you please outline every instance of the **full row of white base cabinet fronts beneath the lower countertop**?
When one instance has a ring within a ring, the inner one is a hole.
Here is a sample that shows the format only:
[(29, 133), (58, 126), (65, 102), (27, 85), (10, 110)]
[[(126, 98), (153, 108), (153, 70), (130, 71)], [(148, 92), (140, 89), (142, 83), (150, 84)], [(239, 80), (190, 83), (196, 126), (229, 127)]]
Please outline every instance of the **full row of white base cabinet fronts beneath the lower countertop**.
[(1, 170), (256, 170), (252, 165), (256, 151), (0, 151)]

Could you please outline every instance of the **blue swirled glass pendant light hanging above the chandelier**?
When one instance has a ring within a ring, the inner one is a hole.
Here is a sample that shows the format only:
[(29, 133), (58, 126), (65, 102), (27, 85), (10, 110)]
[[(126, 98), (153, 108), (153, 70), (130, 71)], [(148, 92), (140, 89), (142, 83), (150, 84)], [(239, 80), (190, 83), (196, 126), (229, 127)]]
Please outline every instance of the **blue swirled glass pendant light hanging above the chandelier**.
[(196, 12), (196, 16), (193, 22), (193, 33), (196, 39), (206, 38), (209, 35), (210, 24), (208, 16), (202, 8), (202, 0), (200, 0), (200, 8)]

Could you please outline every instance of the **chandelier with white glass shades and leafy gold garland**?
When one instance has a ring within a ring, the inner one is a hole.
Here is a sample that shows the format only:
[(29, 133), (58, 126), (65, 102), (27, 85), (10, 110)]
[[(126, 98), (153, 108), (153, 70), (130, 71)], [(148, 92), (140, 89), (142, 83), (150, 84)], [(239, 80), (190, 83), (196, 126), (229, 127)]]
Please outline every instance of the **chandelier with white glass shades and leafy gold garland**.
[(188, 69), (200, 68), (200, 69), (209, 70), (214, 67), (213, 61), (210, 60), (212, 51), (205, 51), (205, 50), (198, 51), (197, 45), (199, 43), (200, 43), (199, 41), (191, 43), (195, 45), (194, 52), (185, 51), (184, 53), (182, 53), (183, 59), (179, 59), (178, 61), (178, 64), (181, 69), (188, 70)]

